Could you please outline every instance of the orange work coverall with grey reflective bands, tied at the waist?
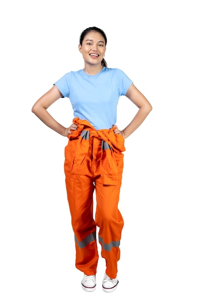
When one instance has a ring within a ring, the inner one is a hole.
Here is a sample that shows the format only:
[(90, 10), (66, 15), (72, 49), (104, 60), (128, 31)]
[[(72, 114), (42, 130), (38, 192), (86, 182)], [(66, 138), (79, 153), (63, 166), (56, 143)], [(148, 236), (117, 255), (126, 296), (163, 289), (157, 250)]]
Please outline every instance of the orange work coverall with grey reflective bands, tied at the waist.
[[(124, 138), (111, 129), (95, 130), (86, 120), (75, 118), (77, 131), (68, 135), (65, 175), (71, 224), (76, 247), (76, 268), (95, 275), (98, 263), (96, 227), (106, 274), (115, 278), (120, 259), (124, 225), (118, 209), (123, 171)], [(93, 192), (96, 195), (93, 218)]]

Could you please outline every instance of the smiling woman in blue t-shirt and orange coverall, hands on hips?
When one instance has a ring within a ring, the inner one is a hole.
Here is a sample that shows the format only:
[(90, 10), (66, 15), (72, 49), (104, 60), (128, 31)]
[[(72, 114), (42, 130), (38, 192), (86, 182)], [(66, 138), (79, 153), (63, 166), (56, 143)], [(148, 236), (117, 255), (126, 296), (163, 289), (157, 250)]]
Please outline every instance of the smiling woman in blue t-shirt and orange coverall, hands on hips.
[[(133, 81), (119, 69), (107, 67), (104, 60), (107, 38), (97, 27), (85, 29), (80, 36), (79, 51), (84, 69), (68, 72), (54, 83), (32, 107), (32, 112), (49, 128), (68, 137), (65, 148), (65, 175), (71, 224), (76, 246), (76, 268), (84, 273), (82, 288), (94, 291), (98, 250), (106, 260), (102, 289), (112, 292), (118, 284), (117, 261), (123, 218), (118, 210), (123, 170), (124, 139), (132, 134), (152, 110)], [(137, 106), (131, 123), (120, 130), (116, 108), (120, 96)], [(59, 98), (68, 97), (73, 108), (69, 128), (59, 124), (47, 108)], [(93, 192), (96, 213), (93, 219)]]

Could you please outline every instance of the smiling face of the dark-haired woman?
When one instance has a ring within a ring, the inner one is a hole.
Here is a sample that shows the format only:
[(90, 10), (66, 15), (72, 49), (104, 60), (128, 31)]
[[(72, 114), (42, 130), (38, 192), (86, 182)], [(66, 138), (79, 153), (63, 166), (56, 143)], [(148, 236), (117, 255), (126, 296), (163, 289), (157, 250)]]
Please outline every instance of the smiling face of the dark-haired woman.
[[(101, 61), (106, 51), (105, 39), (103, 35), (96, 31), (89, 32), (79, 44), (79, 51), (82, 53), (85, 65), (101, 65)], [(102, 66), (102, 65), (101, 65)]]

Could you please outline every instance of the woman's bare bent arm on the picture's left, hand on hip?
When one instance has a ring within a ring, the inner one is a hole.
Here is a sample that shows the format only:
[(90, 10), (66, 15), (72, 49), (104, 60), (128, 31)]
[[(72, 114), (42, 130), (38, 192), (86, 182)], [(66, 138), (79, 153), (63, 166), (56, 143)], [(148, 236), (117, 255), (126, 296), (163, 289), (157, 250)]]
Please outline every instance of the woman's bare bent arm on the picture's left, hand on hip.
[(58, 99), (62, 97), (61, 92), (57, 88), (56, 85), (45, 93), (41, 98), (35, 102), (32, 107), (32, 112), (49, 128), (53, 129), (57, 133), (68, 136), (68, 134), (72, 133), (71, 130), (76, 130), (77, 125), (73, 124), (69, 128), (65, 128), (61, 124), (59, 124), (48, 112), (47, 108)]

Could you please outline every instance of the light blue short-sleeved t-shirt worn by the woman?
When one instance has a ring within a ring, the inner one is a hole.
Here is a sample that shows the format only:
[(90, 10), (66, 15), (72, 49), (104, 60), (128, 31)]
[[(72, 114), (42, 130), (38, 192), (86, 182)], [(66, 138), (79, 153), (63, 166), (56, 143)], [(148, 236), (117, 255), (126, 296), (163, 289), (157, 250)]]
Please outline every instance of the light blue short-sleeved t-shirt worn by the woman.
[(97, 75), (83, 69), (71, 71), (54, 84), (69, 98), (74, 118), (88, 120), (97, 130), (115, 125), (119, 97), (126, 95), (132, 83), (120, 69), (103, 67)]

